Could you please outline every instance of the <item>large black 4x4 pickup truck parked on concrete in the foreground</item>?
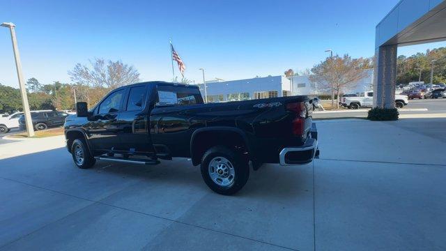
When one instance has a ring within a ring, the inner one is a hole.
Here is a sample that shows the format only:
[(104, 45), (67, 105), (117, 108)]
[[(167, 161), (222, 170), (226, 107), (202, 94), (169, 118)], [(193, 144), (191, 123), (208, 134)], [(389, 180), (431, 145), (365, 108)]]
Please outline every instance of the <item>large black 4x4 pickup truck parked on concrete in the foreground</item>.
[[(75, 165), (95, 160), (201, 164), (208, 187), (231, 195), (263, 163), (302, 165), (318, 156), (311, 100), (291, 96), (204, 104), (197, 86), (144, 82), (111, 91), (88, 110), (77, 103), (65, 136)], [(180, 168), (180, 167), (178, 167)]]

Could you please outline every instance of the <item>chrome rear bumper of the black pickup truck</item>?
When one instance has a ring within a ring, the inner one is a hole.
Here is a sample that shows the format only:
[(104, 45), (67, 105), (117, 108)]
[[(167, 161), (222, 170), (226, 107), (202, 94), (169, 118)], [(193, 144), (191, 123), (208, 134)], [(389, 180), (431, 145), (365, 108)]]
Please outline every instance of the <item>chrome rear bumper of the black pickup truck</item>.
[(279, 153), (280, 165), (305, 165), (319, 157), (316, 124), (312, 124), (311, 137), (302, 146), (285, 147)]

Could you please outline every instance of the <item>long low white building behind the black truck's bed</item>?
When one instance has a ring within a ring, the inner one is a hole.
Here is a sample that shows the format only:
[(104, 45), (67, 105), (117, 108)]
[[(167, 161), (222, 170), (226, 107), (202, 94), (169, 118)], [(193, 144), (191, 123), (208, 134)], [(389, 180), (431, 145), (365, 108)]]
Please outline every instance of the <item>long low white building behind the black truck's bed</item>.
[[(369, 91), (373, 82), (374, 70), (364, 70), (365, 77), (342, 93), (357, 93)], [(199, 84), (201, 95), (205, 95), (203, 84)], [(252, 100), (259, 98), (276, 98), (295, 95), (321, 95), (327, 91), (321, 90), (321, 84), (312, 82), (310, 75), (284, 77), (268, 76), (224, 81), (215, 79), (206, 81), (208, 102), (228, 102), (238, 100)]]

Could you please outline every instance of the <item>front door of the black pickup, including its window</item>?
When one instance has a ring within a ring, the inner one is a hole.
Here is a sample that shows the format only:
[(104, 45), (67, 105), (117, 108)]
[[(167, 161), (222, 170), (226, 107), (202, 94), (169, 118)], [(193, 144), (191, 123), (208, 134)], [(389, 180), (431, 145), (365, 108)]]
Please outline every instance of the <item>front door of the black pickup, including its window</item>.
[(89, 137), (95, 150), (110, 150), (118, 147), (118, 116), (123, 110), (125, 88), (109, 93), (93, 111), (89, 123)]

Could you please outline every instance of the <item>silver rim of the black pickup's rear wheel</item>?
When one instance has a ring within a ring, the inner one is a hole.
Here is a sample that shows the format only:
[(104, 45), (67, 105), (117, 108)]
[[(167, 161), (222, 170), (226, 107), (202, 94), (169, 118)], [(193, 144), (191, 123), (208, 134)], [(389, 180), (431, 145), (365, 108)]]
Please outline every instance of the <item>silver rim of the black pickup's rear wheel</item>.
[(224, 157), (215, 157), (208, 165), (210, 179), (222, 187), (230, 187), (236, 178), (236, 169), (232, 163)]

